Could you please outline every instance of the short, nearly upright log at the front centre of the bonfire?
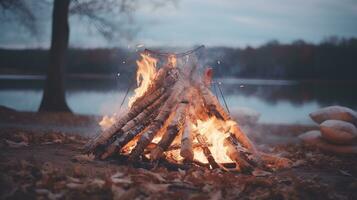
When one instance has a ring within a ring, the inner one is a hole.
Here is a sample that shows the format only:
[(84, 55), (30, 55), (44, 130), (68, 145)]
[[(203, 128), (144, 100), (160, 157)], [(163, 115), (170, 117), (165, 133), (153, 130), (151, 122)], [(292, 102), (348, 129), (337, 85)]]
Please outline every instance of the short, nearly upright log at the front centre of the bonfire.
[(186, 116), (185, 128), (181, 138), (181, 150), (180, 155), (188, 161), (193, 160), (193, 135), (190, 119)]

